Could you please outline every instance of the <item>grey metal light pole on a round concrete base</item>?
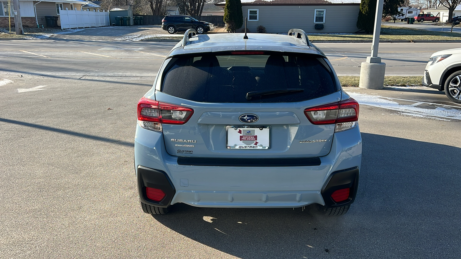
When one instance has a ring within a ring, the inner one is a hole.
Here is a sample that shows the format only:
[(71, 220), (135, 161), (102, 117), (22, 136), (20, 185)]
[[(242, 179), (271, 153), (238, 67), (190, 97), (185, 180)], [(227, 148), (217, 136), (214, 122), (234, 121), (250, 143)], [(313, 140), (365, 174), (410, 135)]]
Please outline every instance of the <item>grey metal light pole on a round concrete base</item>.
[(381, 19), (383, 17), (384, 0), (377, 0), (375, 28), (373, 30), (372, 55), (366, 57), (360, 69), (360, 88), (382, 89), (384, 86), (384, 73), (386, 64), (378, 57), (379, 34), (381, 33)]

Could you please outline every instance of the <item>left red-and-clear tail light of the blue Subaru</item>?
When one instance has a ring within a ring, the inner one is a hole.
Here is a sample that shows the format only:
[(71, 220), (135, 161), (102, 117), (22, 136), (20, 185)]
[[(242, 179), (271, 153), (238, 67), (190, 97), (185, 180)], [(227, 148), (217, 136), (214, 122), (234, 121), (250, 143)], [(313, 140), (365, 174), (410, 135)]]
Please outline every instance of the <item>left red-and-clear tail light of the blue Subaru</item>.
[(142, 97), (138, 102), (139, 125), (149, 130), (162, 131), (162, 124), (185, 124), (194, 110)]

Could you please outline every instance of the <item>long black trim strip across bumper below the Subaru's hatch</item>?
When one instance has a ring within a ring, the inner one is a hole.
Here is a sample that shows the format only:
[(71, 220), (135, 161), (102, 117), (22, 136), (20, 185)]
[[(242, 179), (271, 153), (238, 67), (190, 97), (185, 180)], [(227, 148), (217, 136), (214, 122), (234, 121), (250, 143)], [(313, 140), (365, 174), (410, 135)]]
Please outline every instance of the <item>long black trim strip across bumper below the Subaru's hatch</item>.
[(178, 165), (199, 166), (315, 166), (320, 158), (201, 158), (178, 157)]

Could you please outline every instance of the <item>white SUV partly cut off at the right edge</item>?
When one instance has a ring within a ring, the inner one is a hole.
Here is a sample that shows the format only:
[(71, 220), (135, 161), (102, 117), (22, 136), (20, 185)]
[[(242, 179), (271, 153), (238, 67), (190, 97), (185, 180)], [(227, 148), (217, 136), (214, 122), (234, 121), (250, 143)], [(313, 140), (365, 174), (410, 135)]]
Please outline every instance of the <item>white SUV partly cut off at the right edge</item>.
[(422, 83), (445, 91), (451, 101), (461, 103), (461, 48), (433, 53), (426, 65)]

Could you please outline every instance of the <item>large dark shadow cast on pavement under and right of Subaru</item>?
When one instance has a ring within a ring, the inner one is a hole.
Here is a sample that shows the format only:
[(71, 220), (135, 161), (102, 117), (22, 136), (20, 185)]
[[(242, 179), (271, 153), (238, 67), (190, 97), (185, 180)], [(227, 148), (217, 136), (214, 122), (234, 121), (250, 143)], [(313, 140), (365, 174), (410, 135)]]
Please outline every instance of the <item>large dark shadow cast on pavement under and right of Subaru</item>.
[(321, 216), (313, 206), (303, 211), (178, 204), (171, 214), (154, 218), (243, 259), (459, 255), (461, 148), (368, 133), (362, 138), (359, 190), (345, 216)]

